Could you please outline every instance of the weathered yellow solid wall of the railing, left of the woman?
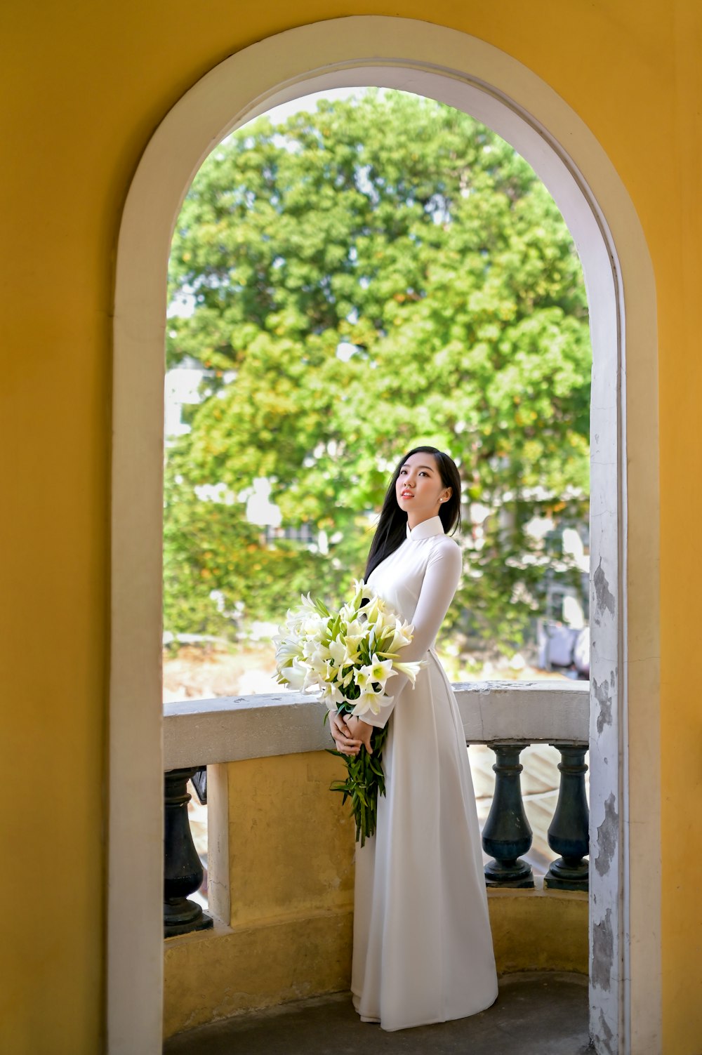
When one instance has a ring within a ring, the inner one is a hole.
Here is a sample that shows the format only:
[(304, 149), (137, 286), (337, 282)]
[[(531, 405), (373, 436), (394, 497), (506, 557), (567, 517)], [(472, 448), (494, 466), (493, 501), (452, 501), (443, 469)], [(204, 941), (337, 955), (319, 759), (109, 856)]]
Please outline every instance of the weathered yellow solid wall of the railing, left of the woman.
[[(217, 928), (165, 943), (164, 1036), (212, 1018), (336, 993), (350, 981), (354, 823), (328, 788), (326, 751), (211, 767), (226, 848), (210, 886), (228, 886)], [(208, 791), (208, 798), (211, 799)], [(211, 902), (216, 899), (211, 898)], [(207, 985), (202, 979), (207, 978)]]

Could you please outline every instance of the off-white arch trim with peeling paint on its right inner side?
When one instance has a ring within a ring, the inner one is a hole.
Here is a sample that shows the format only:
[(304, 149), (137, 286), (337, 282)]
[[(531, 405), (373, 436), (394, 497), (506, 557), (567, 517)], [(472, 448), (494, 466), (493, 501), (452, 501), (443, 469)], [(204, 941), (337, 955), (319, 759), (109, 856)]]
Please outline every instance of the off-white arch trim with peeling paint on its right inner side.
[(593, 345), (590, 1025), (599, 1052), (652, 1055), (662, 1040), (650, 257), (608, 157), (544, 81), (474, 37), (386, 17), (290, 30), (215, 66), (156, 130), (127, 198), (114, 320), (109, 1052), (160, 1052), (163, 399), (172, 229), (195, 172), (228, 132), (309, 92), (371, 84), (450, 103), (509, 140), (555, 198), (583, 262)]

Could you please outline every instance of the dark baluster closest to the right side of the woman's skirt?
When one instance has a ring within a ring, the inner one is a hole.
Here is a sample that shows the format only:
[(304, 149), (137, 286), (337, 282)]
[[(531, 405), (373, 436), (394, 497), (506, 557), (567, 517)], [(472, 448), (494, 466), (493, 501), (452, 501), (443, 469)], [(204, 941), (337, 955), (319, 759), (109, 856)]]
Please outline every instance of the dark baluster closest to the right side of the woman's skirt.
[(495, 793), (490, 814), (482, 829), (482, 847), (492, 855), (485, 867), (488, 886), (532, 887), (534, 877), (531, 866), (520, 861), (531, 846), (531, 827), (524, 811), (519, 754), (524, 744), (491, 744), (497, 761)]

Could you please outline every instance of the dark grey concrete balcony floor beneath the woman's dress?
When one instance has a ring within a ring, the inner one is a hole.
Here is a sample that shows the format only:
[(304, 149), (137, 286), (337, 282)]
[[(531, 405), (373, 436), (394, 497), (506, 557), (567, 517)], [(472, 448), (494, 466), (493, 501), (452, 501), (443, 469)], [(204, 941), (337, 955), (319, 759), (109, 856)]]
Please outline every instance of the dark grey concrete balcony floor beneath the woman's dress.
[(347, 993), (239, 1016), (171, 1037), (164, 1055), (585, 1055), (587, 978), (518, 974), (500, 979), (488, 1011), (386, 1033), (359, 1020)]

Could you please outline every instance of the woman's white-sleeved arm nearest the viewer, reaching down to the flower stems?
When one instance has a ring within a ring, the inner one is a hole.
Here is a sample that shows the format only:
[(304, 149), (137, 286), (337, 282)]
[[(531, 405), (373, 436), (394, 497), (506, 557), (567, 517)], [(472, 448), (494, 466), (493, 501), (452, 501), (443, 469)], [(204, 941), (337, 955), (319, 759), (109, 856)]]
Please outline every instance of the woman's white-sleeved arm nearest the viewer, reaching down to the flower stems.
[[(424, 581), (412, 620), (415, 628), (414, 637), (410, 645), (400, 651), (399, 659), (401, 663), (423, 659), (426, 655), (426, 651), (438, 634), (456, 593), (461, 567), (460, 546), (453, 539), (445, 538), (435, 546), (429, 558)], [(382, 729), (409, 680), (406, 674), (396, 674), (387, 682), (387, 690), (393, 695), (386, 704), (381, 706), (380, 713), (364, 714), (360, 721)], [(353, 729), (356, 737), (361, 737), (361, 730), (358, 730), (354, 725), (350, 725), (349, 728)]]

